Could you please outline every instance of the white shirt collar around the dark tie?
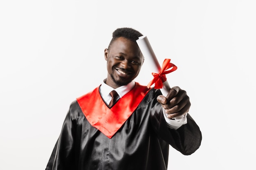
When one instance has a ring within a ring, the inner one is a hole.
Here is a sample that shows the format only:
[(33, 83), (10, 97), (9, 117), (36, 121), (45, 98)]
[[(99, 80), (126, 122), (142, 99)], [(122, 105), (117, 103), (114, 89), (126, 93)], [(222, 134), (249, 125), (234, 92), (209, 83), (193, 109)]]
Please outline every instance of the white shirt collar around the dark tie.
[(127, 85), (120, 86), (120, 87), (114, 89), (114, 88), (108, 86), (108, 84), (106, 84), (105, 80), (104, 80), (103, 83), (100, 86), (100, 94), (104, 98), (105, 96), (108, 96), (110, 91), (115, 90), (117, 92), (117, 94), (119, 95), (119, 97), (122, 98), (124, 95), (126, 95), (126, 93), (128, 93), (130, 90), (132, 90), (132, 88), (134, 86), (135, 86), (135, 81), (132, 80)]

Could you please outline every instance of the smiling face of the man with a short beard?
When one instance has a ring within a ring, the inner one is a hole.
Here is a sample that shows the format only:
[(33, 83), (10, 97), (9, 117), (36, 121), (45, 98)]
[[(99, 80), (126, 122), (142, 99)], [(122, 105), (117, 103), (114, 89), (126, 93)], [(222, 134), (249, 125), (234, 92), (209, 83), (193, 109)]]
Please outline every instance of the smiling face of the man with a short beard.
[(130, 83), (139, 74), (144, 57), (136, 42), (117, 38), (110, 49), (105, 49), (108, 77), (106, 84), (117, 88)]

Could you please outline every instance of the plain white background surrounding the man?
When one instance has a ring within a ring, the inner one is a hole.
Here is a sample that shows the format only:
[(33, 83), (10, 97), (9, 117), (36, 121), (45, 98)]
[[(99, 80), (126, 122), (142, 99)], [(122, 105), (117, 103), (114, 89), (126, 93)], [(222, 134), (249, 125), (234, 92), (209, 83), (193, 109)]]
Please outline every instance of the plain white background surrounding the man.
[[(112, 32), (147, 35), (185, 89), (201, 147), (170, 149), (168, 169), (255, 169), (254, 0), (3, 0), (0, 169), (45, 169), (69, 105), (107, 76)], [(137, 82), (151, 79), (147, 62)], [(181, 167), (180, 167), (181, 166)], [(178, 168), (180, 167), (180, 168)]]

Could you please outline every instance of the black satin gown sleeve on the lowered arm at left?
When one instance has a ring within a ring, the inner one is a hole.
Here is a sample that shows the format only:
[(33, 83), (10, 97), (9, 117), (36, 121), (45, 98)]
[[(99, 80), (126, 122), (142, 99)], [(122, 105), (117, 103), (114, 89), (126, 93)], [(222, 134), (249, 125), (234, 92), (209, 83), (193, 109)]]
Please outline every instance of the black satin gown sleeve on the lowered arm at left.
[(77, 147), (79, 147), (79, 145), (76, 145), (76, 142), (81, 138), (78, 121), (81, 121), (81, 117), (84, 117), (81, 112), (76, 111), (77, 109), (79, 110), (78, 105), (76, 102), (73, 102), (65, 117), (61, 134), (54, 146), (52, 155), (45, 170), (76, 169), (74, 168), (78, 161), (78, 159), (76, 159), (76, 150)]

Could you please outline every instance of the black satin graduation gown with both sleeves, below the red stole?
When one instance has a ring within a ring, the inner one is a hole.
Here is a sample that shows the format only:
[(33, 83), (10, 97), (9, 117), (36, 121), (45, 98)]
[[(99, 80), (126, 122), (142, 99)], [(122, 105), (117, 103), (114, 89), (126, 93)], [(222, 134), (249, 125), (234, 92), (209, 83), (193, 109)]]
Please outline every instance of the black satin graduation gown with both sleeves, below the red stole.
[(169, 145), (191, 155), (202, 140), (198, 125), (188, 114), (187, 124), (168, 128), (156, 100), (160, 94), (151, 89), (111, 139), (91, 126), (74, 101), (46, 170), (166, 170)]

